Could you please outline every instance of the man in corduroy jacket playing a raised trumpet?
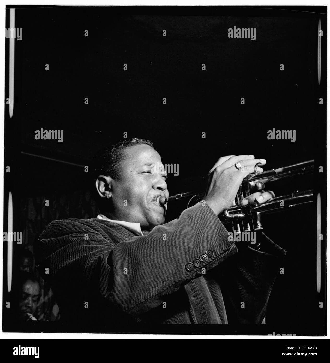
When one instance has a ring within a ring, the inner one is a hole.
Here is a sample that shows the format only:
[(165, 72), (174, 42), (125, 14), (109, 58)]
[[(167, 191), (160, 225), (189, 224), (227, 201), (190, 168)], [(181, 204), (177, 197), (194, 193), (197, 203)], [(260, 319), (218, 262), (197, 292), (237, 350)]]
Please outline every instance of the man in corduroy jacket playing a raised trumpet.
[[(61, 319), (83, 320), (86, 329), (102, 322), (109, 331), (125, 323), (263, 322), (285, 251), (266, 236), (259, 250), (238, 248), (218, 215), (231, 206), (243, 178), (266, 160), (220, 158), (203, 201), (169, 223), (167, 175), (152, 168), (161, 156), (151, 142), (125, 140), (95, 162), (98, 218), (53, 221), (39, 238), (38, 268)], [(242, 204), (273, 196), (257, 191)]]

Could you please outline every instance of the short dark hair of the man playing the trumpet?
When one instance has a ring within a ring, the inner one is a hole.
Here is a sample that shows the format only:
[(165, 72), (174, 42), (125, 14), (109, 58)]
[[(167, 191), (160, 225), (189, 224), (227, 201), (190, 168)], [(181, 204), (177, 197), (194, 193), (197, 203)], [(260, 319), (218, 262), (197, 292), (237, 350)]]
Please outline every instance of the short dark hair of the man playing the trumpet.
[(121, 164), (127, 157), (125, 148), (143, 144), (154, 148), (153, 143), (149, 140), (132, 138), (117, 142), (111, 147), (99, 151), (93, 160), (94, 182), (99, 175), (111, 176), (112, 179), (120, 179)]

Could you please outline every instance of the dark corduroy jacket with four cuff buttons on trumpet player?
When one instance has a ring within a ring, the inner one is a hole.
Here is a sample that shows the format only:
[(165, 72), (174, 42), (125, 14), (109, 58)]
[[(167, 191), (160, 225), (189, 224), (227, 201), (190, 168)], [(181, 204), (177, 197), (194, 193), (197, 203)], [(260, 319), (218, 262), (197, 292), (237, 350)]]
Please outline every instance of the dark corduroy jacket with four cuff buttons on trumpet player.
[(262, 250), (238, 249), (202, 203), (145, 236), (107, 220), (66, 219), (42, 232), (37, 267), (64, 321), (260, 324), (285, 255), (262, 238)]

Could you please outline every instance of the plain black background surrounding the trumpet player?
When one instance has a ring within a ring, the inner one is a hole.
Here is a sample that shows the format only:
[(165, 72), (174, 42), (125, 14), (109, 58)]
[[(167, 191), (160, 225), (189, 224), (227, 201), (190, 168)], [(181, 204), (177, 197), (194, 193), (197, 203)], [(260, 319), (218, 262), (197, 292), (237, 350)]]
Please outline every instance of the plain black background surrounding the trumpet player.
[[(14, 231), (28, 234), (32, 227), (25, 216), (34, 223), (23, 246), (33, 251), (33, 241), (52, 219), (96, 217), (94, 208), (86, 212), (90, 179), (83, 166), (124, 132), (152, 140), (163, 163), (180, 165), (179, 176), (168, 180), (170, 194), (200, 189), (220, 156), (254, 154), (267, 159), (265, 169), (314, 159), (314, 178), (271, 189), (278, 196), (306, 186), (321, 192), (325, 236), (326, 7), (15, 7), (15, 26), (23, 30), (22, 40), (15, 40), (12, 119), (5, 108), (4, 165), (11, 171), (5, 172), (4, 216), (11, 190)], [(228, 38), (227, 29), (234, 26), (256, 28), (256, 40)], [(9, 39), (6, 47), (8, 97)], [(63, 130), (63, 142), (36, 140), (41, 128)], [(268, 140), (273, 128), (296, 130), (296, 142)], [(77, 193), (86, 208), (72, 207)], [(54, 213), (43, 219), (45, 199)], [(33, 201), (37, 217), (29, 215)], [(65, 213), (58, 211), (61, 205)], [(315, 205), (264, 216), (265, 233), (288, 251), (285, 273), (277, 277), (269, 301), (267, 329), (228, 326), (217, 333), (325, 334), (325, 308), (319, 309), (326, 296), (325, 240), (317, 294)], [(178, 217), (180, 207), (169, 209), (168, 219)], [(14, 246), (15, 256), (19, 248)], [(4, 282), (6, 287), (6, 273)]]

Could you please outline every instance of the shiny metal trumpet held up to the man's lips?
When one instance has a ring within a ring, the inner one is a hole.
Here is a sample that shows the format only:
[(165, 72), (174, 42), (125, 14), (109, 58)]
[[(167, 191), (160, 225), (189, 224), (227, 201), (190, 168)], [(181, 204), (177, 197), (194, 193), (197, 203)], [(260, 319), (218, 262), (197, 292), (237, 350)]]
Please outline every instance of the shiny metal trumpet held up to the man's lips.
[[(223, 223), (232, 223), (232, 229), (236, 234), (241, 233), (241, 231), (260, 231), (263, 229), (261, 225), (262, 214), (285, 211), (299, 205), (313, 203), (313, 189), (308, 189), (304, 191), (294, 191), (290, 194), (272, 198), (264, 204), (255, 202), (254, 204), (248, 204), (246, 206), (242, 205), (242, 200), (244, 198), (255, 190), (262, 190), (265, 187), (265, 183), (297, 175), (312, 174), (313, 165), (314, 160), (308, 160), (258, 173), (256, 172), (256, 164), (254, 173), (249, 174), (243, 179), (235, 200), (229, 209), (221, 213), (219, 216), (220, 220), (222, 220)], [(205, 192), (179, 193), (168, 198), (161, 197), (159, 203), (164, 205), (167, 202), (172, 203), (174, 201), (190, 198), (187, 204), (187, 208), (189, 208), (191, 205), (201, 201), (204, 195)]]

